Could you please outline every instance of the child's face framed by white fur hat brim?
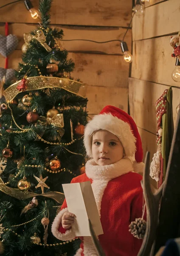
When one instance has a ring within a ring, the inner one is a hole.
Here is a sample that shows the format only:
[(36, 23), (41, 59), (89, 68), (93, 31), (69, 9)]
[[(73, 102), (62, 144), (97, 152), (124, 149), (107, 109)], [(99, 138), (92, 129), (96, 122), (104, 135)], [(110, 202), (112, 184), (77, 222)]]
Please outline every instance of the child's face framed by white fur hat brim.
[(116, 163), (123, 158), (124, 148), (117, 136), (110, 131), (100, 130), (93, 134), (93, 160), (99, 166)]

